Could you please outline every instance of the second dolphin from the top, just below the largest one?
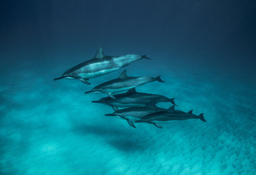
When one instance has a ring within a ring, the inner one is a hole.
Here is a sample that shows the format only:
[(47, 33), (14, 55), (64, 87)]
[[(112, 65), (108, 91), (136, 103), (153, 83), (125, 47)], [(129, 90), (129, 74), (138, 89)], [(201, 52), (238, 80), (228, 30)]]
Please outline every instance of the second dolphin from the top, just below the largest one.
[(109, 97), (115, 98), (114, 93), (119, 93), (125, 90), (130, 90), (140, 85), (144, 85), (148, 82), (163, 82), (158, 77), (128, 77), (126, 70), (124, 70), (117, 79), (112, 79), (108, 82), (104, 82), (101, 85), (97, 85), (93, 90), (85, 93), (101, 92), (106, 93)]

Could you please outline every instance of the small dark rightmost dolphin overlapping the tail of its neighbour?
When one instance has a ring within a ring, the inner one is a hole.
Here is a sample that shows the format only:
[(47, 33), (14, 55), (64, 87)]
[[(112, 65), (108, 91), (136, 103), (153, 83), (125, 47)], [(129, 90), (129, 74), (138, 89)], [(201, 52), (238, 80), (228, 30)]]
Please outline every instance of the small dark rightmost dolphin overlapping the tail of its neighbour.
[(135, 123), (152, 123), (158, 128), (163, 128), (159, 125), (159, 123), (168, 123), (174, 120), (188, 119), (200, 119), (203, 122), (206, 122), (203, 117), (203, 113), (197, 116), (192, 112), (193, 110), (190, 110), (189, 112), (182, 112), (179, 110), (175, 110), (174, 106), (171, 106), (168, 110), (147, 114), (146, 116), (141, 117), (141, 120), (135, 121)]

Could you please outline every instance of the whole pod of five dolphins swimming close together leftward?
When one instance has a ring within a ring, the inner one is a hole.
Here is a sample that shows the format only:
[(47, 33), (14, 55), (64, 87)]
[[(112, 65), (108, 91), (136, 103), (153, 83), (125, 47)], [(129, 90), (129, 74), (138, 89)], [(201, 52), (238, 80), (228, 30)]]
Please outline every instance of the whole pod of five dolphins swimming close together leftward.
[[(79, 79), (85, 84), (90, 85), (90, 82), (88, 82), (90, 78), (117, 71), (142, 58), (150, 59), (146, 55), (106, 56), (104, 55), (103, 48), (100, 47), (93, 59), (74, 66), (65, 71), (61, 77), (54, 80)], [(164, 82), (160, 79), (160, 76), (128, 77), (126, 70), (124, 70), (118, 78), (103, 82), (85, 93), (105, 93), (108, 95), (98, 101), (92, 101), (92, 103), (112, 106), (114, 112), (105, 115), (126, 120), (133, 128), (136, 128), (134, 123), (150, 123), (157, 128), (163, 128), (160, 123), (169, 123), (177, 120), (200, 119), (206, 122), (203, 113), (195, 115), (193, 110), (182, 112), (174, 109), (174, 106), (177, 106), (174, 103), (174, 98), (136, 92), (136, 87), (155, 81)], [(120, 93), (123, 91), (127, 92)], [(171, 102), (172, 106), (169, 109), (163, 109), (156, 106), (159, 102)]]

